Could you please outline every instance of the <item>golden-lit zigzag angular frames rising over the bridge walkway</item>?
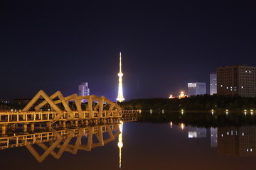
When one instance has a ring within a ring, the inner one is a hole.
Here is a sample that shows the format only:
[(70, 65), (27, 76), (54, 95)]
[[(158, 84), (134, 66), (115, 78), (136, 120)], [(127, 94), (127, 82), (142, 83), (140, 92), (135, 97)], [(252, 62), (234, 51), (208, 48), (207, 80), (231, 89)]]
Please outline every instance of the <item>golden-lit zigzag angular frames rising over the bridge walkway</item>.
[[(43, 106), (49, 104), (51, 110), (58, 113), (53, 118), (53, 121), (57, 121), (62, 118), (64, 113), (67, 113), (68, 115), (67, 120), (72, 120), (73, 118), (77, 117), (75, 113), (78, 113), (78, 118), (80, 119), (85, 118), (83, 115), (84, 113), (88, 113), (89, 118), (93, 118), (94, 115), (97, 115), (97, 118), (109, 118), (113, 116), (119, 118), (122, 117), (121, 108), (117, 105), (117, 103), (110, 101), (104, 96), (78, 96), (77, 94), (73, 94), (63, 97), (60, 91), (57, 91), (52, 96), (48, 96), (43, 90), (39, 91), (38, 94), (32, 98), (28, 105), (23, 108), (22, 112), (30, 111), (32, 106), (36, 103), (36, 101), (39, 100), (39, 98), (44, 98), (45, 101), (35, 106), (35, 111), (41, 111)], [(81, 101), (84, 99), (87, 99), (87, 103), (85, 103), (84, 107), (82, 107)], [(75, 101), (75, 107), (73, 107), (73, 110), (69, 106), (69, 101)]]

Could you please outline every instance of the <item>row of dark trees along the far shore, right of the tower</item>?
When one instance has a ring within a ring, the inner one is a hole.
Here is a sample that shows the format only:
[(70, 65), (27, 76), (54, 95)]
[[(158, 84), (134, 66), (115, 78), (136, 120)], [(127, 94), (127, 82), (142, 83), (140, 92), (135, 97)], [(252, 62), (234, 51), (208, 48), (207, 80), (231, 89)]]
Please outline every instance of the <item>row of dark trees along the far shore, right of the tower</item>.
[(187, 111), (208, 111), (210, 109), (252, 109), (256, 98), (240, 96), (198, 95), (189, 98), (144, 98), (119, 103), (125, 109), (167, 109)]

